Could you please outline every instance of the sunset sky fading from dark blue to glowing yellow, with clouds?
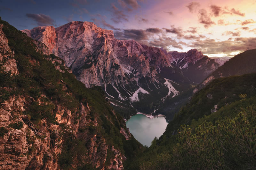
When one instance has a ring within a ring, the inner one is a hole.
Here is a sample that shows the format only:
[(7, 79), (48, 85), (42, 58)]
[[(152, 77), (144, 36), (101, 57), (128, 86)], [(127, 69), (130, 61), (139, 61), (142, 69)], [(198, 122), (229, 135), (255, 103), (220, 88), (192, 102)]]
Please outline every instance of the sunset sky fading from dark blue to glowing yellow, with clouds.
[(18, 30), (90, 21), (167, 51), (233, 57), (256, 48), (256, 0), (0, 0), (0, 16)]

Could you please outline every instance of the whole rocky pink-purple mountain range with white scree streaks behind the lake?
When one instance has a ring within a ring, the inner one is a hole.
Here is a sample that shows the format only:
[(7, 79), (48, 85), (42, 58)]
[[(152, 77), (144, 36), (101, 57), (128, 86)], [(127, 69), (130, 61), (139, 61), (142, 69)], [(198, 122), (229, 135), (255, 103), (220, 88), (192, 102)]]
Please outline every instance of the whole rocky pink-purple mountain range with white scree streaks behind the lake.
[(219, 67), (193, 49), (182, 55), (188, 65), (182, 69), (183, 60), (176, 55), (134, 40), (117, 40), (113, 31), (92, 22), (72, 21), (57, 28), (22, 31), (63, 59), (87, 88), (102, 86), (112, 106), (125, 118), (137, 111), (152, 113), (156, 101), (178, 95)]

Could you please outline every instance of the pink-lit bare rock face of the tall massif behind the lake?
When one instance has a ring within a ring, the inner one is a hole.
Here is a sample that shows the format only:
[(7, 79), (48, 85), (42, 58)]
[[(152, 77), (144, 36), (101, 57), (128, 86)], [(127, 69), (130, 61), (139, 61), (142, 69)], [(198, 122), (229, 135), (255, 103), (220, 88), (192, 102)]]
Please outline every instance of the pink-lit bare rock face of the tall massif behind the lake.
[[(73, 21), (56, 29), (44, 26), (23, 32), (42, 41), (53, 54), (64, 59), (86, 87), (100, 85), (108, 93), (111, 90), (107, 86), (113, 86), (111, 89), (120, 93), (120, 99), (127, 99), (141, 86), (140, 78), (148, 76), (154, 82), (150, 67), (171, 66), (159, 48), (133, 40), (116, 40), (113, 31), (101, 29), (92, 22)], [(123, 88), (126, 92), (120, 92)]]

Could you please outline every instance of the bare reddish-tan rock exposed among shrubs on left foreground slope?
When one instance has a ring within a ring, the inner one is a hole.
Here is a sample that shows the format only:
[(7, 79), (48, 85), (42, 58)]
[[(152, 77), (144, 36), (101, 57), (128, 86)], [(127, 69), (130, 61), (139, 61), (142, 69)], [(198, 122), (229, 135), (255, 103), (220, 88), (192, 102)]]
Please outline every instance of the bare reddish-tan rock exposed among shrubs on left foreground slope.
[[(3, 25), (0, 25), (0, 64), (2, 64), (0, 65), (0, 73), (11, 71), (12, 75), (20, 74), (15, 60), (15, 53), (8, 46), (8, 39), (2, 27)], [(45, 27), (45, 30), (48, 30), (48, 28), (52, 27)], [(49, 30), (52, 31), (51, 29)], [(37, 42), (39, 41), (34, 41), (35, 44)], [(30, 45), (33, 44), (31, 43)], [(36, 46), (38, 46), (38, 48), (35, 47), (37, 48), (36, 51), (40, 52), (41, 43), (39, 42)], [(43, 53), (49, 53), (48, 48), (44, 47)], [(29, 56), (27, 57), (29, 58)], [(60, 72), (65, 71), (65, 63), (60, 58), (48, 58), (48, 60)], [(61, 89), (67, 89), (65, 82), (62, 80), (60, 85), (62, 86)], [(12, 91), (9, 87), (3, 87), (2, 85), (0, 90), (1, 92), (2, 90)], [(0, 95), (2, 96), (3, 94)], [(67, 93), (67, 95), (72, 96), (73, 94)], [(38, 103), (37, 107), (42, 105), (54, 106), (54, 110), (50, 114), (56, 115), (57, 123), (48, 123), (46, 119), (42, 119), (37, 125), (34, 125), (30, 120), (30, 116), (24, 114), (33, 103)], [(86, 157), (82, 159), (82, 163), (92, 165), (92, 167), (100, 170), (107, 169), (105, 161), (110, 145), (107, 144), (102, 134), (97, 133), (97, 131), (92, 133), (88, 130), (88, 126), (99, 127), (98, 122), (101, 121), (99, 120), (100, 118), (98, 119), (99, 116), (90, 119), (88, 115), (90, 115), (91, 111), (91, 107), (87, 102), (80, 102), (72, 110), (68, 106), (63, 106), (60, 103), (56, 104), (44, 92), (40, 92), (40, 97), (36, 98), (36, 100), (23, 93), (11, 94), (8, 99), (0, 103), (0, 169), (60, 169), (60, 164), (58, 163), (59, 154), (68, 150), (63, 146), (63, 141), (67, 140), (63, 137), (66, 133), (63, 131), (63, 126), (69, 129), (68, 132), (72, 134), (72, 140), (79, 139), (86, 144), (86, 149), (82, 151), (86, 153)], [(115, 115), (113, 111), (112, 114)], [(114, 120), (117, 121), (117, 117), (116, 119), (114, 117)], [(129, 130), (125, 130), (125, 126), (120, 127), (120, 135), (124, 135), (124, 140), (129, 140), (127, 137), (131, 137), (128, 132)], [(123, 162), (126, 159), (124, 154), (114, 147), (112, 147), (112, 150), (114, 154), (111, 157), (110, 166), (113, 169), (124, 169)], [(72, 159), (74, 161), (70, 165), (71, 169), (76, 169), (78, 167), (77, 164), (82, 164), (77, 161), (77, 157)]]

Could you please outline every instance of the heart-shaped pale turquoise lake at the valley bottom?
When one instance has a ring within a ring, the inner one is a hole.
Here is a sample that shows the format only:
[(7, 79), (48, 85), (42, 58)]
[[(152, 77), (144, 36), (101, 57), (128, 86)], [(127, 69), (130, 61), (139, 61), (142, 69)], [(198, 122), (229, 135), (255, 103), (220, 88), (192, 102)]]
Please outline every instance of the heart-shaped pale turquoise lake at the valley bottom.
[(134, 115), (126, 122), (135, 139), (148, 147), (155, 137), (160, 137), (164, 133), (167, 124), (164, 116), (150, 119), (142, 114)]

